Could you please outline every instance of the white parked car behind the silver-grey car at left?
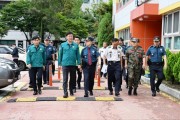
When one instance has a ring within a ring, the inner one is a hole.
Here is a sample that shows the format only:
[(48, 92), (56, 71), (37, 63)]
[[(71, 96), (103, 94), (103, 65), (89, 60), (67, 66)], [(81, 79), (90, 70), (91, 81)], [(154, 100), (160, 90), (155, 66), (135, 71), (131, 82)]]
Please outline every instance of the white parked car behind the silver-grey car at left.
[[(12, 58), (12, 53), (13, 49), (7, 45), (0, 45), (0, 57), (3, 57), (3, 58), (7, 58), (9, 60), (13, 60)], [(25, 70), (26, 69), (26, 52), (23, 52), (22, 50), (20, 50), (18, 48), (18, 51), (19, 51), (19, 68), (20, 70)]]

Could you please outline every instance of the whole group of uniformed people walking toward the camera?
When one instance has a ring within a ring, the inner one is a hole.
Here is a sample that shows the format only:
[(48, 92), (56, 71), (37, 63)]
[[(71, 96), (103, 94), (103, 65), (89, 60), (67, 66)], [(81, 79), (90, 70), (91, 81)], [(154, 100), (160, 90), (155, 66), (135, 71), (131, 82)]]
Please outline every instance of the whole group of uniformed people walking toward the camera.
[[(44, 83), (48, 83), (48, 67), (54, 64), (54, 50), (49, 45), (49, 39), (45, 40), (45, 46), (40, 44), (40, 38), (32, 39), (33, 45), (28, 48), (27, 65), (30, 68), (30, 81), (32, 82), (33, 95), (41, 94), (42, 75), (44, 71)], [(110, 95), (119, 96), (122, 85), (122, 78), (126, 81), (128, 95), (137, 95), (137, 88), (140, 82), (142, 69), (150, 70), (150, 83), (152, 96), (159, 92), (159, 86), (164, 79), (163, 66), (167, 66), (166, 52), (160, 45), (160, 38), (155, 36), (154, 45), (150, 46), (145, 54), (143, 48), (139, 46), (138, 38), (131, 38), (130, 46), (123, 44), (123, 39), (113, 38), (111, 45), (106, 42), (98, 50), (93, 45), (94, 39), (88, 37), (85, 40), (85, 47), (80, 45), (80, 38), (74, 37), (72, 32), (66, 34), (66, 42), (62, 43), (58, 51), (58, 66), (63, 71), (63, 90), (64, 98), (69, 93), (71, 96), (76, 92), (76, 88), (81, 89), (82, 73), (84, 75), (84, 97), (93, 96), (94, 76), (96, 69), (102, 69), (107, 65), (107, 73), (101, 73), (101, 76), (108, 79), (108, 89)], [(162, 59), (164, 56), (164, 59)], [(155, 76), (158, 81), (155, 84)], [(78, 78), (76, 78), (78, 76)], [(36, 79), (38, 86), (36, 86)], [(77, 85), (77, 86), (76, 86)], [(113, 90), (114, 86), (114, 90)], [(114, 92), (113, 92), (114, 91)]]

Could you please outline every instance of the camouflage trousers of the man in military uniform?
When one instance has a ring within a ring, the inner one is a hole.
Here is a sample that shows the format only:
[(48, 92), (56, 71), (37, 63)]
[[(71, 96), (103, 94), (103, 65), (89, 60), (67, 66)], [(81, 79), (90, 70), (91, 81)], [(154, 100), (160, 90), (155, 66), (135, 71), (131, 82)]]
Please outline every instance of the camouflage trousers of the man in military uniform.
[(140, 75), (141, 75), (140, 66), (128, 67), (128, 86), (137, 88)]

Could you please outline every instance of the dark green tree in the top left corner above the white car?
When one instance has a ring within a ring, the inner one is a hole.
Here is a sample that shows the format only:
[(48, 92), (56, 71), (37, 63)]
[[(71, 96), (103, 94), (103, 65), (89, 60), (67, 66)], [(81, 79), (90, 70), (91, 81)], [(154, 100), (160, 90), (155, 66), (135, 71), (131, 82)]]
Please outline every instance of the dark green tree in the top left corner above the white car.
[(20, 30), (28, 40), (28, 34), (32, 37), (32, 32), (38, 24), (38, 14), (32, 11), (31, 2), (28, 0), (19, 0), (6, 5), (0, 12), (1, 24), (11, 30)]

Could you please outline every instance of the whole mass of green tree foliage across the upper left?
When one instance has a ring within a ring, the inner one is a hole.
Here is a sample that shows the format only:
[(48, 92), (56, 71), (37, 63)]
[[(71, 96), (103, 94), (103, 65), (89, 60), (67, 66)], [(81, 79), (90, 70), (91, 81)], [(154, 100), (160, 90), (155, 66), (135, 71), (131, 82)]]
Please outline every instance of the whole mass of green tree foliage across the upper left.
[[(65, 32), (73, 31), (81, 37), (87, 37), (87, 21), (81, 11), (82, 0), (18, 0), (3, 8), (0, 17), (5, 28), (29, 32), (38, 31), (44, 38), (45, 32), (64, 37)], [(61, 14), (61, 15), (59, 15)], [(0, 23), (1, 25), (1, 23)], [(27, 37), (27, 35), (26, 35)], [(28, 38), (27, 38), (28, 39)]]

